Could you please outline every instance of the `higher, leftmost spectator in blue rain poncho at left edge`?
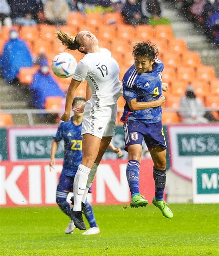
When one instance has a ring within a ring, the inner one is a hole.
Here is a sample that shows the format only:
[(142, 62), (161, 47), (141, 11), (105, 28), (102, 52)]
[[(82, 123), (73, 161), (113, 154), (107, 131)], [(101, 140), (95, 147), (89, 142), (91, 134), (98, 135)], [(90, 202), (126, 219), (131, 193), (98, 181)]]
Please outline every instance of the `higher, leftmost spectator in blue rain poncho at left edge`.
[(10, 30), (9, 37), (0, 56), (0, 68), (2, 76), (12, 83), (21, 67), (32, 66), (32, 58), (26, 43), (18, 38), (16, 29)]

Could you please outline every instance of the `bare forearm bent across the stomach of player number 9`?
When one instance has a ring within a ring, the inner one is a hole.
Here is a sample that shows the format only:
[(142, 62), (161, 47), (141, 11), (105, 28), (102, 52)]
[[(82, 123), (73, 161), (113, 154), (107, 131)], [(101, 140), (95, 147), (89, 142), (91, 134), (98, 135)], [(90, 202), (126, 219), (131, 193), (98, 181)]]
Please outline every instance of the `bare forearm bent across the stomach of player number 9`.
[(149, 108), (156, 108), (163, 105), (165, 102), (165, 97), (160, 96), (158, 100), (152, 102), (137, 102), (137, 99), (134, 98), (133, 100), (128, 102), (128, 107), (131, 111), (141, 110), (141, 109), (149, 109)]

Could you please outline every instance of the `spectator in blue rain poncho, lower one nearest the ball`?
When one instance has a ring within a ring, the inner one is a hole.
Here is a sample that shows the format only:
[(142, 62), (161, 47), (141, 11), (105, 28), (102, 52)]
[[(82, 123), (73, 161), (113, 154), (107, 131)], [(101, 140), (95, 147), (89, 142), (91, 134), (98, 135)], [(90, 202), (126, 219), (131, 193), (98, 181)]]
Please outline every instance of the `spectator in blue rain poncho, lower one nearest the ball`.
[(40, 69), (35, 73), (29, 89), (32, 93), (32, 105), (36, 109), (44, 109), (47, 96), (65, 97), (64, 92), (59, 88), (55, 79), (49, 73), (47, 60), (41, 62)]

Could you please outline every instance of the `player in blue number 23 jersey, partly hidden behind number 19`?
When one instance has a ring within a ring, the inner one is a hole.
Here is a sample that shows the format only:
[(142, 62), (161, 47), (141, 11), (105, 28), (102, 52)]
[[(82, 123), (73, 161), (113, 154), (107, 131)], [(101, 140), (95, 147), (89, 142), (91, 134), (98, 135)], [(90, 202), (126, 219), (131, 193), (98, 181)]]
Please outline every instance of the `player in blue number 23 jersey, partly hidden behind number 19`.
[[(85, 103), (85, 98), (76, 97), (73, 100), (73, 108), (80, 107)], [(51, 160), (50, 167), (53, 168), (55, 165), (55, 153), (57, 151), (59, 141), (64, 140), (64, 162), (61, 176), (59, 179), (59, 184), (56, 191), (56, 202), (59, 205), (61, 211), (63, 211), (67, 216), (71, 210), (71, 206), (67, 202), (67, 195), (69, 192), (73, 192), (73, 182), (75, 174), (78, 170), (78, 166), (82, 160), (82, 116), (83, 113), (74, 112), (73, 117), (68, 122), (61, 122), (57, 130), (51, 147)], [(111, 143), (109, 149), (122, 156), (122, 151), (120, 148), (115, 148)], [(89, 190), (91, 192), (91, 188)], [(90, 228), (86, 230), (83, 235), (95, 235), (100, 232), (96, 220), (94, 218), (93, 210), (91, 205), (85, 201), (84, 213), (87, 221), (90, 224)], [(65, 233), (70, 234), (74, 230), (73, 220), (68, 224)]]

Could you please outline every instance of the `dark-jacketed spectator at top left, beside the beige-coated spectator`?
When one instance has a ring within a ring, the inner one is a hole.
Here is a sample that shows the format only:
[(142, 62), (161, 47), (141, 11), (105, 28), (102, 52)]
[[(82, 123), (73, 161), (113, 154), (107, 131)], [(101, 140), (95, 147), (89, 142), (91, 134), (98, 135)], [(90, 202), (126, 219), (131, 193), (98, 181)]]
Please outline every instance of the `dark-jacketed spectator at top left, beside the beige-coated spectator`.
[(8, 0), (13, 24), (19, 26), (36, 25), (37, 13), (42, 8), (40, 0)]

